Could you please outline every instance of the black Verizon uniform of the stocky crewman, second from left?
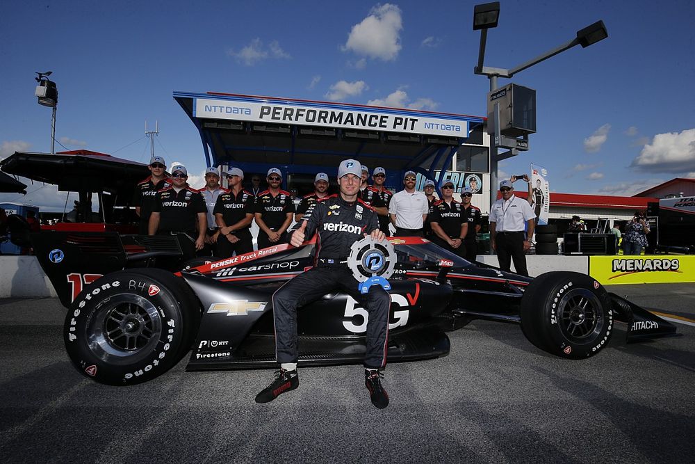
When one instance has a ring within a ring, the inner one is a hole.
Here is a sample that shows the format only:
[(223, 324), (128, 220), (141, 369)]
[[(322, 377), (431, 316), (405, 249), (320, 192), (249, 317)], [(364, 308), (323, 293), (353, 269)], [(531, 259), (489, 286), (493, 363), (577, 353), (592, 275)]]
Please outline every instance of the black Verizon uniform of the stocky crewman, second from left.
[(197, 190), (186, 187), (179, 193), (173, 187), (157, 192), (152, 212), (159, 213), (158, 235), (183, 232), (190, 241), (181, 243), (184, 259), (195, 257), (198, 213), (207, 213), (205, 201)]

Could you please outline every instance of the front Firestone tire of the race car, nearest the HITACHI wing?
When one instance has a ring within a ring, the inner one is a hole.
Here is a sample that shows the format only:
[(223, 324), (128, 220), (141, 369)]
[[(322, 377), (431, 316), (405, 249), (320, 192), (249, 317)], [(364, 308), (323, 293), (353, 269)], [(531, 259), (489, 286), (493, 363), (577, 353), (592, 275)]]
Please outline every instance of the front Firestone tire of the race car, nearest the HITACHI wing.
[(561, 358), (589, 358), (612, 337), (610, 297), (588, 275), (567, 271), (539, 275), (521, 299), (521, 330), (543, 351)]

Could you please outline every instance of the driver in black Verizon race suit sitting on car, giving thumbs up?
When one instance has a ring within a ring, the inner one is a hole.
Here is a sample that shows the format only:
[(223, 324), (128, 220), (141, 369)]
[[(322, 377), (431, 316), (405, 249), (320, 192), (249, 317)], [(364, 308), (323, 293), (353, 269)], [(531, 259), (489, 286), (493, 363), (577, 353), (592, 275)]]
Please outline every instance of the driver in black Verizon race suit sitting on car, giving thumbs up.
[[(359, 161), (346, 159), (338, 167), (340, 193), (316, 202), (306, 212), (300, 227), (291, 234), (290, 244), (300, 246), (304, 239), (318, 232), (321, 248), (316, 266), (283, 285), (272, 296), (275, 317), (275, 353), (280, 370), (275, 380), (256, 396), (256, 403), (267, 403), (279, 394), (299, 386), (297, 376), (297, 308), (323, 295), (342, 289), (367, 310), (365, 385), (374, 406), (389, 405), (389, 395), (380, 378), (386, 365), (386, 343), (389, 330), (391, 298), (379, 285), (361, 294), (358, 282), (347, 267), (347, 255), (354, 241), (370, 234), (383, 240), (377, 214), (357, 198), (360, 184)], [(340, 211), (340, 214), (332, 214)]]

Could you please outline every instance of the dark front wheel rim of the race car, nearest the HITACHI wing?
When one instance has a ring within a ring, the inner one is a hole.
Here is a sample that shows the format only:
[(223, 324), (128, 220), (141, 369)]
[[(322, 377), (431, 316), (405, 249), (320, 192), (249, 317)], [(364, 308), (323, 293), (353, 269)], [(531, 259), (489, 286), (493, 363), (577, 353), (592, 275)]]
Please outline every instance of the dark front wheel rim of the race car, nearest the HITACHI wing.
[(587, 343), (603, 329), (603, 305), (588, 289), (569, 289), (557, 303), (557, 319), (566, 339)]

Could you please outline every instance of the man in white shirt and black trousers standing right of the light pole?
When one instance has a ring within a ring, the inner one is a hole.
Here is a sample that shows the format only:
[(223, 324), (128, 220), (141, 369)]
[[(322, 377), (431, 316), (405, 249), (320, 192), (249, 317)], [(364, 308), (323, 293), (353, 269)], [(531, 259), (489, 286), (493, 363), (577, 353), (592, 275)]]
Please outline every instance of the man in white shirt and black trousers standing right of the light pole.
[[(514, 195), (512, 182), (500, 182), (502, 198), (490, 208), (490, 244), (497, 250), (502, 271), (512, 271), (512, 259), (517, 274), (528, 275), (525, 253), (531, 248), (536, 215), (528, 201)], [(524, 222), (527, 231), (524, 232)]]

